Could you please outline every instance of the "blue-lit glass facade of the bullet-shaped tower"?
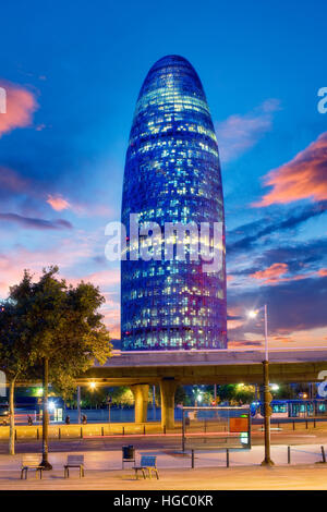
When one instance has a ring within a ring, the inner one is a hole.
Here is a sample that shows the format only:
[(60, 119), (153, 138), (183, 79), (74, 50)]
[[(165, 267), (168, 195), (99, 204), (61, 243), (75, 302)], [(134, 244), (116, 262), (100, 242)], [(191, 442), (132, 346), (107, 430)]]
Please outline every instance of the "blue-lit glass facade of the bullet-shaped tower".
[(130, 214), (138, 214), (140, 223), (157, 222), (162, 231), (165, 222), (221, 222), (222, 266), (204, 271), (201, 259), (191, 259), (190, 247), (184, 260), (130, 260), (128, 236), (121, 263), (122, 350), (225, 349), (218, 146), (201, 81), (182, 57), (156, 62), (141, 88), (124, 170), (122, 223), (128, 233)]

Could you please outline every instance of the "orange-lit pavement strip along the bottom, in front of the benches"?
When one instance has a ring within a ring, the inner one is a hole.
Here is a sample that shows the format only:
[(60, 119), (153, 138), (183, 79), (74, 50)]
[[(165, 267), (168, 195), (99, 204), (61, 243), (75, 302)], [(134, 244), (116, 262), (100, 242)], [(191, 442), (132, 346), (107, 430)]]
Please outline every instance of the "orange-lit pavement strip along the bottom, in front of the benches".
[(17, 472), (0, 472), (0, 490), (326, 490), (326, 464), (275, 467), (211, 467), (195, 470), (161, 470), (160, 479), (135, 480), (134, 472), (88, 471), (84, 478), (73, 474), (69, 479), (63, 473), (46, 473), (41, 480), (34, 476), (21, 480)]

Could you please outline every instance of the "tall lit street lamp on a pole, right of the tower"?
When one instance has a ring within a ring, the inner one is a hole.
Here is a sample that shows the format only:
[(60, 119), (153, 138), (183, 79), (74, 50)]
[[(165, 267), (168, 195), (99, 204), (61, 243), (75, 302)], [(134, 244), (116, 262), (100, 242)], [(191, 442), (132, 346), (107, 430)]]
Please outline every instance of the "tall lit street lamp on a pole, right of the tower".
[(259, 309), (249, 312), (250, 318), (255, 318), (259, 312), (264, 310), (265, 316), (265, 361), (263, 361), (264, 368), (264, 412), (265, 412), (265, 459), (262, 462), (263, 466), (272, 466), (274, 462), (270, 459), (270, 416), (271, 416), (271, 394), (269, 391), (269, 353), (268, 353), (268, 312), (267, 304)]

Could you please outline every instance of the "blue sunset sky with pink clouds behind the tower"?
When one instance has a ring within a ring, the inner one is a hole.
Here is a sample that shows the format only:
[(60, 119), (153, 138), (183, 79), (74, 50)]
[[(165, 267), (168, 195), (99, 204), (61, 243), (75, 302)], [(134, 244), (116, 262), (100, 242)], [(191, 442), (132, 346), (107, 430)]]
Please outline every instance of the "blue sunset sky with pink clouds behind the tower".
[[(215, 122), (227, 222), (230, 346), (327, 348), (326, 2), (95, 0), (1, 7), (0, 297), (24, 268), (98, 284), (120, 337), (120, 220), (136, 98), (165, 54), (197, 71)], [(155, 5), (157, 5), (155, 8)]]

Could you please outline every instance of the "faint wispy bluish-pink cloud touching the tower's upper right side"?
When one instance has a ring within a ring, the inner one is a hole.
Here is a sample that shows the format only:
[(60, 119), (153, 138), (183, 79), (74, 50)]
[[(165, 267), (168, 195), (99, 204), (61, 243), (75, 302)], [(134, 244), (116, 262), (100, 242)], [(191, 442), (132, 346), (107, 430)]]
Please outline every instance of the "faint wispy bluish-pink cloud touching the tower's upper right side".
[(245, 115), (233, 114), (216, 123), (221, 161), (239, 158), (271, 130), (274, 112), (280, 110), (277, 99), (268, 99)]

